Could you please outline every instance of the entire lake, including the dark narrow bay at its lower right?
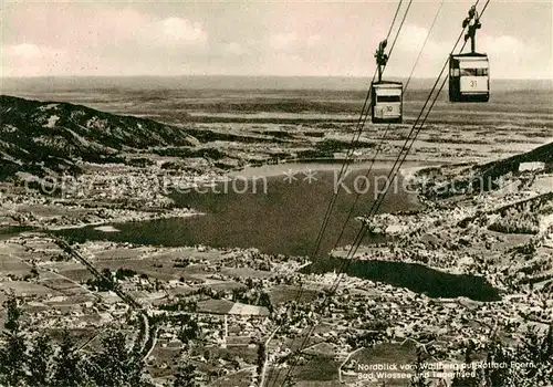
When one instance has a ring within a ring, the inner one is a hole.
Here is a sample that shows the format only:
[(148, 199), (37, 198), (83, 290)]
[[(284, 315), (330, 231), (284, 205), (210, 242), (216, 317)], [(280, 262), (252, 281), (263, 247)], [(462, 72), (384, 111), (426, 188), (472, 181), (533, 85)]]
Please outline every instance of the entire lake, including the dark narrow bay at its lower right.
[[(343, 180), (338, 179), (337, 165), (290, 164), (249, 168), (232, 174), (232, 180), (227, 182), (173, 196), (179, 206), (189, 206), (206, 215), (112, 224), (118, 232), (102, 232), (93, 226), (56, 232), (77, 240), (166, 247), (257, 248), (270, 254), (311, 257), (334, 189), (341, 187), (313, 265), (314, 272), (333, 271), (340, 266), (340, 261), (330, 259), (328, 251), (335, 245), (352, 243), (361, 227), (355, 217), (368, 212), (375, 199), (375, 187), (382, 187), (388, 171), (379, 165), (366, 178), (362, 167), (352, 166)], [(365, 186), (367, 182), (368, 189)], [(414, 192), (403, 189), (403, 177), (398, 176), (379, 212), (422, 208)], [(345, 223), (356, 200), (353, 216)], [(366, 236), (364, 243), (384, 241), (382, 236)], [(347, 274), (408, 287), (429, 296), (462, 295), (479, 301), (498, 297), (497, 290), (482, 278), (448, 274), (420, 264), (353, 261)]]

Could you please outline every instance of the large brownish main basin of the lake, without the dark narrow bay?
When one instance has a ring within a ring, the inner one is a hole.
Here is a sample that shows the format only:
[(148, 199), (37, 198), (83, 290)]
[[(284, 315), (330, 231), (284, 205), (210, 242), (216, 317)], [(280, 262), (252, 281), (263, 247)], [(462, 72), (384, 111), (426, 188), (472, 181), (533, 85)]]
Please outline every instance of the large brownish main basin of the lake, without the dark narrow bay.
[[(334, 189), (341, 187), (317, 257), (353, 241), (375, 198), (374, 185), (384, 184), (387, 169), (366, 178), (355, 165), (341, 181), (340, 165), (289, 164), (249, 168), (232, 174), (233, 180), (175, 194), (178, 206), (189, 206), (206, 215), (112, 224), (119, 232), (105, 233), (94, 227), (59, 231), (80, 240), (106, 239), (167, 247), (206, 244), (216, 248), (258, 248), (270, 254), (311, 255)], [(415, 194), (401, 189), (403, 178), (389, 189), (379, 212), (421, 209)], [(342, 182), (342, 184), (340, 184)], [(368, 189), (364, 186), (369, 184)], [(358, 188), (358, 190), (356, 190)], [(357, 206), (338, 241), (352, 205)], [(372, 241), (384, 241), (371, 237)], [(338, 241), (338, 243), (336, 243)]]

